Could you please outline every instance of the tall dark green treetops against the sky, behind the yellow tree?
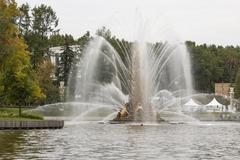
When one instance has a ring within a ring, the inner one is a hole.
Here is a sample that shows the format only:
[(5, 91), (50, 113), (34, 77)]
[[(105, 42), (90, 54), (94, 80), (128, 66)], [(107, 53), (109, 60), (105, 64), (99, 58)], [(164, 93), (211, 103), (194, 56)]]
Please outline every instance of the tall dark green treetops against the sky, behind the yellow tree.
[(30, 7), (27, 3), (21, 5), (19, 10), (17, 24), (31, 52), (33, 67), (36, 68), (48, 52), (49, 36), (59, 31), (56, 29), (58, 18), (53, 9), (44, 4), (34, 7), (32, 14), (30, 14)]

